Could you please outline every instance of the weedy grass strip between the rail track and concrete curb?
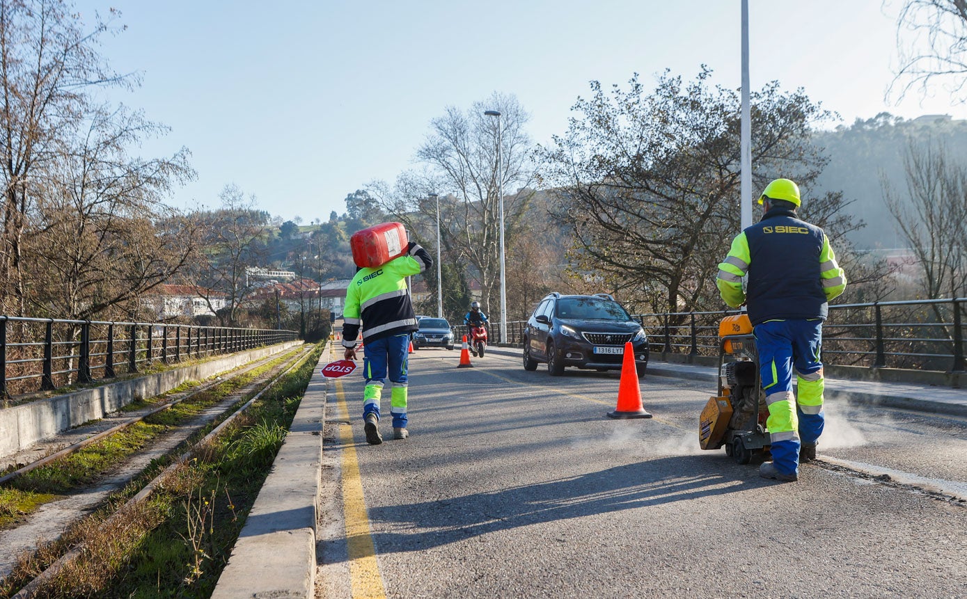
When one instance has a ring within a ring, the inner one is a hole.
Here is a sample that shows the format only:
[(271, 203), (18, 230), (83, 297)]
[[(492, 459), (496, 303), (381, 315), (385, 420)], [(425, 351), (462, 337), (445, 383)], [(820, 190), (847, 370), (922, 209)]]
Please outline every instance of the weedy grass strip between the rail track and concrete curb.
[[(109, 507), (99, 510), (24, 560), (0, 585), (0, 594), (15, 593), (67, 547), (81, 545), (81, 556), (44, 587), (44, 596), (210, 596), (321, 351), (318, 347), (218, 439), (195, 451), (152, 499), (126, 510), (120, 519), (109, 520)], [(132, 483), (110, 504), (116, 508), (148, 480)]]

